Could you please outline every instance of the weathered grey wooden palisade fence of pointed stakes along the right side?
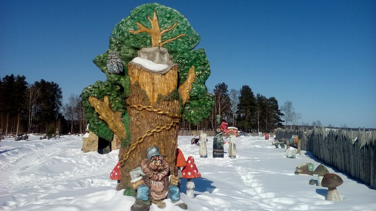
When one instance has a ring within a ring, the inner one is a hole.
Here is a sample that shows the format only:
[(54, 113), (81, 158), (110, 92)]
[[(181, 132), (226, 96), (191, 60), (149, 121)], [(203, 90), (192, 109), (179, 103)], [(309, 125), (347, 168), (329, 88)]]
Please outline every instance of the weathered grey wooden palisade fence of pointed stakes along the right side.
[(276, 139), (289, 139), (298, 135), (301, 149), (312, 154), (351, 178), (376, 189), (376, 131), (329, 130), (324, 127), (312, 130), (276, 130)]

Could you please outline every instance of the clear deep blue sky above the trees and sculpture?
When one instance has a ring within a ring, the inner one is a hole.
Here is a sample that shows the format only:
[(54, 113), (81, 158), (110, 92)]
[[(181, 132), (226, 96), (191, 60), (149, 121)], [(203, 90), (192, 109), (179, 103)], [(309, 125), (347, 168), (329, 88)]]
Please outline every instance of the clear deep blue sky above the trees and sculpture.
[[(150, 1), (0, 1), (0, 77), (60, 85), (64, 102), (97, 80), (115, 24)], [(376, 128), (375, 1), (158, 1), (185, 15), (211, 67), (209, 90), (249, 85), (293, 102), (301, 122)]]

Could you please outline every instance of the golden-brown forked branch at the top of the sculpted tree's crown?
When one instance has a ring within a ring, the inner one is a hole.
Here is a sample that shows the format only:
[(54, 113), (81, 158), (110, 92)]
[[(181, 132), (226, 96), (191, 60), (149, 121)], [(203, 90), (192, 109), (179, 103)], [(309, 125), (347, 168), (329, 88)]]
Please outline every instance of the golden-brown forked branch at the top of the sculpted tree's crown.
[(169, 32), (170, 30), (174, 29), (177, 25), (177, 22), (175, 22), (174, 25), (171, 26), (170, 28), (161, 31), (161, 28), (159, 27), (157, 14), (155, 13), (155, 11), (153, 11), (153, 19), (150, 18), (149, 16), (147, 17), (147, 19), (152, 24), (152, 27), (150, 29), (148, 29), (145, 26), (143, 26), (142, 24), (136, 22), (137, 26), (139, 26), (139, 29), (136, 30), (136, 31), (129, 30), (128, 32), (130, 32), (132, 34), (138, 34), (138, 33), (142, 33), (142, 32), (146, 32), (146, 33), (150, 34), (150, 36), (152, 36), (152, 47), (163, 47), (163, 45), (166, 44), (167, 42), (171, 42), (174, 39), (177, 39), (181, 36), (186, 36), (186, 34), (180, 34), (180, 35), (177, 35), (174, 38), (170, 38), (170, 39), (167, 39), (167, 40), (162, 42), (162, 35), (166, 32)]

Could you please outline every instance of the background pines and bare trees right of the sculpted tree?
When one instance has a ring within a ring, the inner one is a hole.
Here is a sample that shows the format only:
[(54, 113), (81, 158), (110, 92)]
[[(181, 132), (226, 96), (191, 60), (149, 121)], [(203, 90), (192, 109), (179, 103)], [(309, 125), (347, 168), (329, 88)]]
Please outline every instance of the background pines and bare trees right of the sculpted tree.
[(211, 114), (198, 125), (182, 122), (180, 127), (187, 130), (213, 130), (216, 115), (221, 115), (228, 126), (237, 127), (244, 132), (270, 132), (283, 127), (280, 118), (284, 116), (275, 97), (256, 96), (248, 85), (240, 90), (228, 90), (225, 83), (218, 83), (212, 92), (215, 104)]

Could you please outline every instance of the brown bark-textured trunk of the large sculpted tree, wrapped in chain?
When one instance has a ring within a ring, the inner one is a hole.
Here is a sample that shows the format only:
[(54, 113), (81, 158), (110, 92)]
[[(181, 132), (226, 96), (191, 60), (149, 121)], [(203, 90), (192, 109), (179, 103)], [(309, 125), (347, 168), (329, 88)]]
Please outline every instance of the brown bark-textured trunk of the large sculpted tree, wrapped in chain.
[[(140, 166), (141, 161), (147, 158), (146, 150), (153, 146), (158, 147), (159, 153), (170, 165), (170, 174), (177, 176), (175, 162), (180, 103), (177, 99), (171, 100), (169, 96), (177, 91), (178, 68), (172, 65), (168, 72), (161, 74), (130, 62), (128, 74), (130, 142), (129, 146), (120, 149), (119, 160), (123, 160), (128, 153), (129, 157), (121, 167), (121, 182), (117, 190), (131, 186), (129, 172)], [(172, 124), (174, 122), (177, 124)], [(140, 141), (143, 136), (143, 141)]]

